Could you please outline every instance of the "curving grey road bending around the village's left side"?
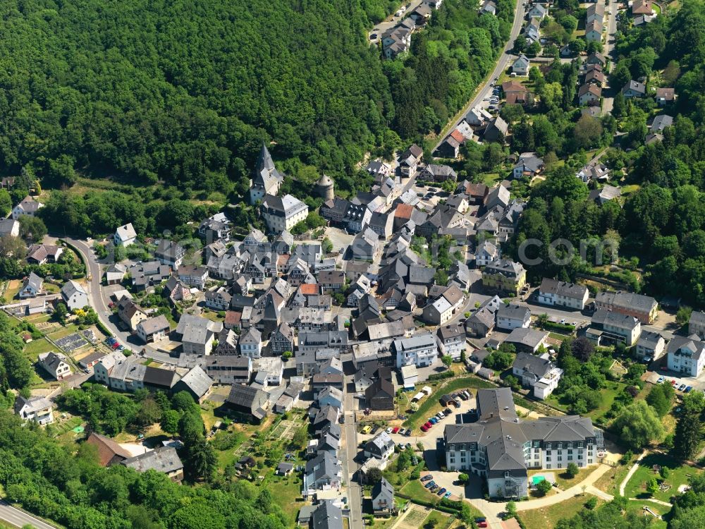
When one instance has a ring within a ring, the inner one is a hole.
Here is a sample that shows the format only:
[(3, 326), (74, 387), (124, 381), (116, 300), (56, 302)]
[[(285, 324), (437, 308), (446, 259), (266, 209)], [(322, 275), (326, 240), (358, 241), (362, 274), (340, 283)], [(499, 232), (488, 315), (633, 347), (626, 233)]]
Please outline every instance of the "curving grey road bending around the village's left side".
[(121, 329), (118, 329), (117, 325), (114, 324), (114, 322), (111, 322), (110, 317), (113, 315), (113, 313), (108, 308), (108, 305), (105, 303), (105, 297), (103, 295), (103, 287), (101, 282), (102, 270), (100, 267), (100, 263), (96, 260), (92, 248), (90, 248), (90, 246), (87, 245), (85, 241), (81, 241), (80, 239), (73, 239), (69, 237), (65, 237), (65, 239), (69, 243), (73, 244), (75, 248), (78, 249), (78, 251), (82, 255), (83, 261), (87, 262), (88, 272), (90, 273), (91, 278), (91, 280), (88, 281), (87, 291), (91, 301), (91, 305), (97, 313), (98, 319), (102, 322), (102, 324), (104, 324), (108, 329), (110, 329), (110, 332), (114, 334), (115, 339), (119, 341), (121, 345), (125, 346), (128, 349), (139, 351), (141, 348), (145, 348), (145, 356), (147, 358), (157, 360), (157, 362), (166, 364), (176, 363), (175, 359), (171, 358), (170, 355), (166, 353), (161, 353), (160, 351), (154, 349), (154, 347), (152, 346), (140, 346), (139, 344), (137, 344), (133, 336), (131, 336), (127, 332), (123, 332)]

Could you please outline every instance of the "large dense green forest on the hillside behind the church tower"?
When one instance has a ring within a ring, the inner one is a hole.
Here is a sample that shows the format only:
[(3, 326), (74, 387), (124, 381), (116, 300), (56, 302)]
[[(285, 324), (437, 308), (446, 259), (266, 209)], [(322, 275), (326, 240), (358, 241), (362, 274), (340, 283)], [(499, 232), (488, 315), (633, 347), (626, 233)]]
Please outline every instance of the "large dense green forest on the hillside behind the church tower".
[[(393, 102), (367, 43), (391, 2), (23, 0), (0, 8), (0, 172), (242, 186), (262, 140), (340, 171)], [(74, 171), (75, 169), (75, 171)]]

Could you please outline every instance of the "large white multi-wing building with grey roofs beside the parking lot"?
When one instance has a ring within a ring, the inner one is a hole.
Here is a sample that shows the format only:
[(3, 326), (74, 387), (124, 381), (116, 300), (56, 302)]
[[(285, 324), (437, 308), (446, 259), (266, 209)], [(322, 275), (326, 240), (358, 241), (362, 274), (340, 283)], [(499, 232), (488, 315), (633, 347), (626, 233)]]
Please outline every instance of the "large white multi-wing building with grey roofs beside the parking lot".
[(477, 391), (479, 420), (446, 425), (446, 468), (486, 480), (491, 498), (520, 499), (529, 491), (528, 470), (560, 470), (598, 463), (602, 436), (589, 418), (577, 415), (521, 419), (509, 388)]

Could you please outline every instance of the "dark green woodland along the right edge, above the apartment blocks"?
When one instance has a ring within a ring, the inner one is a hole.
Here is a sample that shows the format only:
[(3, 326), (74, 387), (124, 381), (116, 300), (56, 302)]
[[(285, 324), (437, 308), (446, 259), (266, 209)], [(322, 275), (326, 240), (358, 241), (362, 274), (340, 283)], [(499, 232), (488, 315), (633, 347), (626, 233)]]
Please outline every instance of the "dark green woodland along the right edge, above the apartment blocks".
[[(580, 164), (568, 159), (550, 164), (548, 178), (536, 186), (522, 216), (513, 251), (527, 238), (547, 243), (566, 238), (579, 248), (581, 240), (608, 239), (619, 248), (625, 271), (618, 279), (630, 288), (675, 295), (687, 303), (705, 304), (705, 7), (686, 1), (679, 11), (658, 17), (645, 28), (623, 28), (617, 35), (612, 83), (646, 76), (649, 90), (675, 86), (678, 101), (666, 113), (675, 118), (663, 142), (644, 145), (649, 119), (658, 114), (653, 97), (615, 98), (615, 147), (603, 160), (612, 178), (630, 186), (623, 207), (599, 206), (586, 200), (589, 189), (577, 180)], [(516, 139), (515, 139), (516, 141)], [(535, 144), (534, 144), (535, 145)], [(544, 151), (546, 152), (546, 151)], [(549, 153), (550, 154), (550, 153)], [(625, 167), (624, 174), (622, 168)], [(628, 189), (628, 188), (627, 188)], [(538, 250), (547, 257), (547, 246)], [(603, 255), (603, 257), (611, 257)], [(558, 276), (575, 279), (589, 271), (577, 258), (568, 265), (531, 267), (531, 279)], [(629, 268), (644, 267), (643, 281)]]

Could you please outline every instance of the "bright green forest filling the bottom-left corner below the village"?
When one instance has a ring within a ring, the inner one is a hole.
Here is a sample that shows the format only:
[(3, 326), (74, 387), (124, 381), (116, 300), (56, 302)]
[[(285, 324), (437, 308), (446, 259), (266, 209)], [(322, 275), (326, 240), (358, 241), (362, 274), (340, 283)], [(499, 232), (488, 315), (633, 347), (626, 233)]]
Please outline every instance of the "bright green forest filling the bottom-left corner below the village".
[(68, 529), (285, 527), (271, 492), (246, 480), (182, 487), (154, 470), (102, 468), (96, 456), (90, 445), (78, 451), (64, 446), (0, 410), (0, 485), (6, 497)]

